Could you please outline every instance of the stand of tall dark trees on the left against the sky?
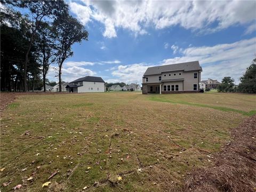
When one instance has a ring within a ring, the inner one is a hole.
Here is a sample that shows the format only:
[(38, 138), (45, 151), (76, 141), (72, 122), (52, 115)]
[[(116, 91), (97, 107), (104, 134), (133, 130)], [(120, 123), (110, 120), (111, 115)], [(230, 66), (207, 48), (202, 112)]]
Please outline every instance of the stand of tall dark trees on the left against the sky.
[[(59, 84), (71, 46), (88, 32), (68, 12), (64, 1), (1, 1), (1, 91), (34, 91), (51, 65)], [(60, 91), (61, 91), (61, 86)]]

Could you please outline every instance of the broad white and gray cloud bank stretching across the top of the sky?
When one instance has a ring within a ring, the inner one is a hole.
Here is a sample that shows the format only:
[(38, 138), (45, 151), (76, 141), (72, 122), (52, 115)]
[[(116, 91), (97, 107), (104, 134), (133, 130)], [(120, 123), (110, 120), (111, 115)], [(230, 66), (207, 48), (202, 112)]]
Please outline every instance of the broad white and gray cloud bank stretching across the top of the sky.
[[(86, 25), (105, 25), (103, 36), (116, 37), (116, 28), (147, 34), (147, 27), (185, 29), (213, 33), (233, 25), (255, 23), (255, 1), (82, 1), (70, 2), (71, 12)], [(216, 25), (217, 24), (217, 25)], [(212, 27), (214, 25), (214, 27)], [(250, 27), (249, 27), (250, 28)], [(247, 29), (251, 30), (251, 29)]]

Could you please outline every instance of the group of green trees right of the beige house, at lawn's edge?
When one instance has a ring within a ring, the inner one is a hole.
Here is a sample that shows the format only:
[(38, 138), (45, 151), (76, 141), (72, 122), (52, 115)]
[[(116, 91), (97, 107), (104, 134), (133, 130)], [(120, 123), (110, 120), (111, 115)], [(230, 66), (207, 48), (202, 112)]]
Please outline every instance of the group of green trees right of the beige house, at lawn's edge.
[(235, 80), (231, 77), (224, 77), (218, 86), (218, 92), (239, 92), (239, 93), (256, 93), (256, 58), (248, 67), (238, 86), (234, 84)]

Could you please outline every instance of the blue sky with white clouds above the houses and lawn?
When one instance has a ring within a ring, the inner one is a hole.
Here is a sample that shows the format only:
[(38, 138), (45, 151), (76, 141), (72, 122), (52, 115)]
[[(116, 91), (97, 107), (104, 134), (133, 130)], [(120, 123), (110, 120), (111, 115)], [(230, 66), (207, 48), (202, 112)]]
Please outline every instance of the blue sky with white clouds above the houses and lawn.
[[(62, 80), (142, 83), (148, 67), (198, 60), (202, 79), (239, 83), (256, 54), (256, 1), (66, 1), (89, 32)], [(58, 81), (52, 67), (48, 78)]]

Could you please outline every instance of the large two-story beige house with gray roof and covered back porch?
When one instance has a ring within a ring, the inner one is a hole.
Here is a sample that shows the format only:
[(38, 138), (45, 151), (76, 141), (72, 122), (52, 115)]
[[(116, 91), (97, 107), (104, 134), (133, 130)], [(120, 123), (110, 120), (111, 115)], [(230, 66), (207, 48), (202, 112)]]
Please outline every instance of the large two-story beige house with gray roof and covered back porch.
[(199, 92), (201, 72), (198, 61), (149, 67), (142, 78), (142, 93)]

